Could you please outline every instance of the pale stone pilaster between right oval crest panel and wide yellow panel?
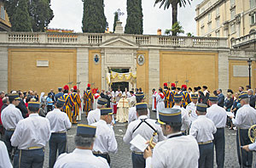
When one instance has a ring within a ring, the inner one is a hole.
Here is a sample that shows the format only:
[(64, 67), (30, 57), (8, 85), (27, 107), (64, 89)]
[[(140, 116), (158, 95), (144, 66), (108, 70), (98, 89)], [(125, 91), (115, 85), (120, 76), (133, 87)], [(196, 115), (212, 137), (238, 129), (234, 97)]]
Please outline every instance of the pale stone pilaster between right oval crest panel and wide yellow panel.
[[(151, 90), (160, 87), (160, 51), (158, 49), (149, 49), (148, 52), (148, 93), (151, 96)], [(148, 98), (148, 103), (152, 104), (151, 97)]]

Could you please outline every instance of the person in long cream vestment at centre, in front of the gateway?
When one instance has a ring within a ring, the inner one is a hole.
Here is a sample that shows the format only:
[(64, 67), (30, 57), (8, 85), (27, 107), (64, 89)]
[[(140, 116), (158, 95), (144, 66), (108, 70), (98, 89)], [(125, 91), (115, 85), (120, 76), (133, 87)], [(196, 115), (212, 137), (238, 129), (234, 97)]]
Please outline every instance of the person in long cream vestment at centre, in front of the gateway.
[(128, 111), (129, 111), (129, 102), (127, 98), (125, 98), (125, 94), (119, 99), (119, 103), (117, 105), (117, 114), (116, 121), (117, 122), (127, 122), (128, 121)]

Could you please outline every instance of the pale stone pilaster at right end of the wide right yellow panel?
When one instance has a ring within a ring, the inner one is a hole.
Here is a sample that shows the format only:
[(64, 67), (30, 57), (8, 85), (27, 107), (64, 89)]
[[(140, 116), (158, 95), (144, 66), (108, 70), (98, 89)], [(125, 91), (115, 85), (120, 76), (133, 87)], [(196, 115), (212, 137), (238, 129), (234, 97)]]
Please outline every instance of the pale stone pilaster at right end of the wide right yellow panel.
[(218, 88), (223, 92), (229, 88), (229, 51), (218, 52)]

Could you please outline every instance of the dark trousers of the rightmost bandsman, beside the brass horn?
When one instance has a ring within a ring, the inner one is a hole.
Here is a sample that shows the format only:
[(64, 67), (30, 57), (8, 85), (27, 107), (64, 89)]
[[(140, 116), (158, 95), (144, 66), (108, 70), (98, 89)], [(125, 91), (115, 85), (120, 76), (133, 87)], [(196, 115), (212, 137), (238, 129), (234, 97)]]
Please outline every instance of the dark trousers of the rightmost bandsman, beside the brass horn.
[(248, 129), (237, 129), (236, 132), (236, 148), (239, 165), (241, 167), (252, 167), (253, 164), (253, 152), (247, 152), (241, 149), (241, 146), (252, 143), (248, 137)]

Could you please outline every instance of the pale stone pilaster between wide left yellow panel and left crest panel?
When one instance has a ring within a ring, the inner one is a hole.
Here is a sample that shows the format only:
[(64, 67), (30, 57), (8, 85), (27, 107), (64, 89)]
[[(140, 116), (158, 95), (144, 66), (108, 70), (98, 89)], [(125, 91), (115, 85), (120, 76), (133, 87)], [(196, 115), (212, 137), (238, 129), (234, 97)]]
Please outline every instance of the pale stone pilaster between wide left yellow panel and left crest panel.
[(77, 81), (81, 81), (79, 90), (81, 93), (86, 89), (89, 81), (89, 50), (88, 48), (78, 48), (77, 50)]

